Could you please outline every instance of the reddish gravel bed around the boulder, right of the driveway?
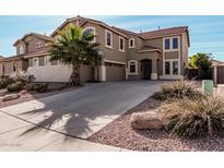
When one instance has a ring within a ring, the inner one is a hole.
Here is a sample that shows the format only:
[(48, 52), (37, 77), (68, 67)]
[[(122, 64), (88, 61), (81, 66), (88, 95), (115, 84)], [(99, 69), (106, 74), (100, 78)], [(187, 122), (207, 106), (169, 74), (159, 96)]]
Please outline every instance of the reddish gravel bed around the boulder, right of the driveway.
[(133, 130), (129, 119), (133, 112), (144, 112), (161, 105), (161, 101), (148, 98), (105, 128), (90, 136), (91, 142), (117, 147), (149, 152), (190, 152), (190, 151), (224, 151), (224, 137), (180, 140), (170, 137), (165, 130)]

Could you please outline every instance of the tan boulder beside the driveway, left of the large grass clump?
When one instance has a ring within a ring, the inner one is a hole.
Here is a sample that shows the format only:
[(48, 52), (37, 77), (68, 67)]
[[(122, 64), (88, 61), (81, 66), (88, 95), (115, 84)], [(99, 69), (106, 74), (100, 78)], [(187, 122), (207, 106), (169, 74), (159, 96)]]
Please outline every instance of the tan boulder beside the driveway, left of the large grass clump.
[(163, 123), (158, 118), (157, 112), (138, 112), (132, 113), (130, 124), (138, 130), (161, 130)]

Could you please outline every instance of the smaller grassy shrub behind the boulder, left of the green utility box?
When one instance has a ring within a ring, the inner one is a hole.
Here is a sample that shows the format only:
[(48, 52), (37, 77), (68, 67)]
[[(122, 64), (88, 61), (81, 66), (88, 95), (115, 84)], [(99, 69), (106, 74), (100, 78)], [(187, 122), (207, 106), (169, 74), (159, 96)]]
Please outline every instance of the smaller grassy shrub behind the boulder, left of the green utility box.
[(166, 100), (173, 98), (201, 97), (203, 94), (197, 91), (190, 83), (186, 81), (177, 81), (165, 84), (152, 97), (155, 99)]

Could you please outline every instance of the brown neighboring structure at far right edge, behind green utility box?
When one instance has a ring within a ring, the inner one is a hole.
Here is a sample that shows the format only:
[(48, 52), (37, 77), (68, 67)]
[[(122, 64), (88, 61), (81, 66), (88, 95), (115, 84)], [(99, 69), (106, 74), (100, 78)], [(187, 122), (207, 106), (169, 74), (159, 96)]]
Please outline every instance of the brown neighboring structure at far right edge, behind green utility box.
[(213, 60), (212, 67), (214, 84), (224, 84), (224, 62)]

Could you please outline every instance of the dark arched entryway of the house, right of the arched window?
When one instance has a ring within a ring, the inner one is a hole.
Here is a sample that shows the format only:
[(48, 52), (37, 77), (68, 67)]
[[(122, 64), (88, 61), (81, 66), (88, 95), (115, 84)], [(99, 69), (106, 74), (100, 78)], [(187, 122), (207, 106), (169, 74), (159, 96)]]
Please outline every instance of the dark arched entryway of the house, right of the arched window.
[(151, 80), (151, 73), (152, 73), (152, 60), (150, 59), (141, 60), (142, 80)]

